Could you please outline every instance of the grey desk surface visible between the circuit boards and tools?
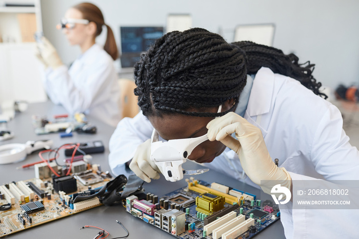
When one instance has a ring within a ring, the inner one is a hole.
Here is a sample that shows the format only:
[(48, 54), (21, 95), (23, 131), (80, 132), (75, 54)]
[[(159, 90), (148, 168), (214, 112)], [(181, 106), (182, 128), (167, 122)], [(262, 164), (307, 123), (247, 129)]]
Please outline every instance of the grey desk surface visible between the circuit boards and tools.
[[(66, 113), (64, 108), (61, 106), (55, 106), (51, 102), (30, 104), (27, 111), (17, 113), (14, 120), (8, 123), (9, 130), (13, 131), (15, 134), (14, 138), (8, 141), (0, 142), (0, 145), (10, 143), (25, 143), (28, 140), (36, 141), (51, 139), (54, 141), (54, 147), (58, 147), (66, 143), (83, 143), (101, 140), (105, 145), (105, 153), (93, 154), (93, 163), (100, 164), (103, 171), (110, 170), (107, 157), (109, 154), (108, 142), (112, 132), (114, 131), (114, 128), (111, 126), (105, 125), (102, 122), (88, 117), (88, 120), (97, 126), (97, 134), (87, 135), (74, 133), (73, 137), (60, 138), (58, 134), (36, 135), (34, 133), (34, 128), (31, 122), (32, 115), (47, 115), (51, 117), (54, 114), (61, 113)], [(0, 185), (10, 181), (17, 182), (34, 178), (35, 175), (33, 168), (16, 170), (16, 167), (27, 163), (37, 162), (39, 160), (40, 158), (35, 152), (31, 155), (28, 155), (23, 162), (0, 165)], [(201, 166), (191, 162), (187, 162), (185, 165), (185, 168), (187, 169), (200, 167)], [(185, 178), (188, 177), (189, 176), (185, 175)], [(209, 172), (201, 175), (195, 175), (195, 178), (207, 181), (208, 183), (222, 183), (230, 187), (235, 187), (237, 189), (260, 195), (260, 190), (242, 182), (233, 180), (233, 178), (217, 173), (213, 170), (210, 170)], [(146, 192), (155, 193), (159, 197), (184, 186), (186, 186), (186, 182), (184, 180), (171, 183), (167, 182), (163, 176), (159, 180), (152, 181), (150, 184), (144, 184)], [(57, 221), (24, 230), (22, 232), (14, 233), (6, 238), (93, 238), (98, 230), (90, 228), (79, 230), (79, 228), (84, 225), (92, 225), (104, 228), (110, 233), (110, 236), (107, 238), (125, 235), (126, 232), (120, 225), (116, 223), (115, 220), (121, 222), (128, 229), (130, 235), (127, 238), (175, 238), (171, 234), (168, 234), (161, 229), (140, 221), (139, 218), (136, 218), (127, 213), (123, 206), (100, 206), (59, 219)], [(272, 226), (258, 234), (255, 238), (285, 238), (281, 222), (275, 222)]]

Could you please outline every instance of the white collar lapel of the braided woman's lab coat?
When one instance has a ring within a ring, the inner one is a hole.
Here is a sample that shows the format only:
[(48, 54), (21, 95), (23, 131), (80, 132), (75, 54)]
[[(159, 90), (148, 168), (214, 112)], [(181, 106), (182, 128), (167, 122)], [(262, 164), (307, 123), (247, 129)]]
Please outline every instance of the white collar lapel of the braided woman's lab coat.
[(247, 113), (249, 116), (268, 113), (271, 107), (274, 87), (274, 73), (262, 67), (255, 75), (249, 96)]

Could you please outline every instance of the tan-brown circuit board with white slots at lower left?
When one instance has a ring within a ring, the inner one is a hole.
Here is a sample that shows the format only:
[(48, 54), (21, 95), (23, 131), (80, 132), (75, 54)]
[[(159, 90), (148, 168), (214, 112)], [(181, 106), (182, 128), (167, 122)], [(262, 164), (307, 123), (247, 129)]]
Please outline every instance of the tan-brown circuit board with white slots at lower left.
[(72, 195), (90, 195), (112, 179), (99, 170), (99, 165), (92, 166), (79, 163), (73, 167), (85, 167), (81, 172), (53, 179), (46, 177), (47, 166), (36, 165), (36, 178), (1, 185), (0, 237), (101, 206), (98, 197), (71, 203)]

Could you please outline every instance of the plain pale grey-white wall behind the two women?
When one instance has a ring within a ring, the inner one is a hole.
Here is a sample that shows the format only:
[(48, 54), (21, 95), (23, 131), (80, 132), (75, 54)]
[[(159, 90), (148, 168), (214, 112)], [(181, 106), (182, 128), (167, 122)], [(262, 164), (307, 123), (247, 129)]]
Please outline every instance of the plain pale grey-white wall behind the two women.
[[(79, 54), (55, 25), (76, 0), (42, 0), (45, 36), (66, 64)], [(112, 27), (119, 45), (119, 26), (165, 26), (168, 13), (190, 13), (193, 27), (232, 41), (237, 24), (274, 23), (273, 46), (294, 52), (302, 63), (315, 63), (315, 78), (335, 88), (359, 85), (359, 1), (357, 0), (94, 0)], [(104, 42), (105, 37), (101, 36)]]

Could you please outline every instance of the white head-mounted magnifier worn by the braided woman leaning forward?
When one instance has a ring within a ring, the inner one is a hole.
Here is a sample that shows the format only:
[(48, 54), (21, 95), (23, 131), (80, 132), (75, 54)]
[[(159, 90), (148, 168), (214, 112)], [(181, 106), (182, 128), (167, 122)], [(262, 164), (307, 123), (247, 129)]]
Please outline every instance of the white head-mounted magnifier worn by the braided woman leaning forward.
[[(221, 112), (222, 105), (218, 108)], [(195, 138), (181, 138), (159, 141), (158, 132), (153, 129), (151, 136), (151, 160), (162, 171), (167, 181), (182, 180), (183, 174), (200, 174), (209, 169), (183, 170), (182, 164), (186, 162), (193, 149), (208, 140), (207, 134)]]

